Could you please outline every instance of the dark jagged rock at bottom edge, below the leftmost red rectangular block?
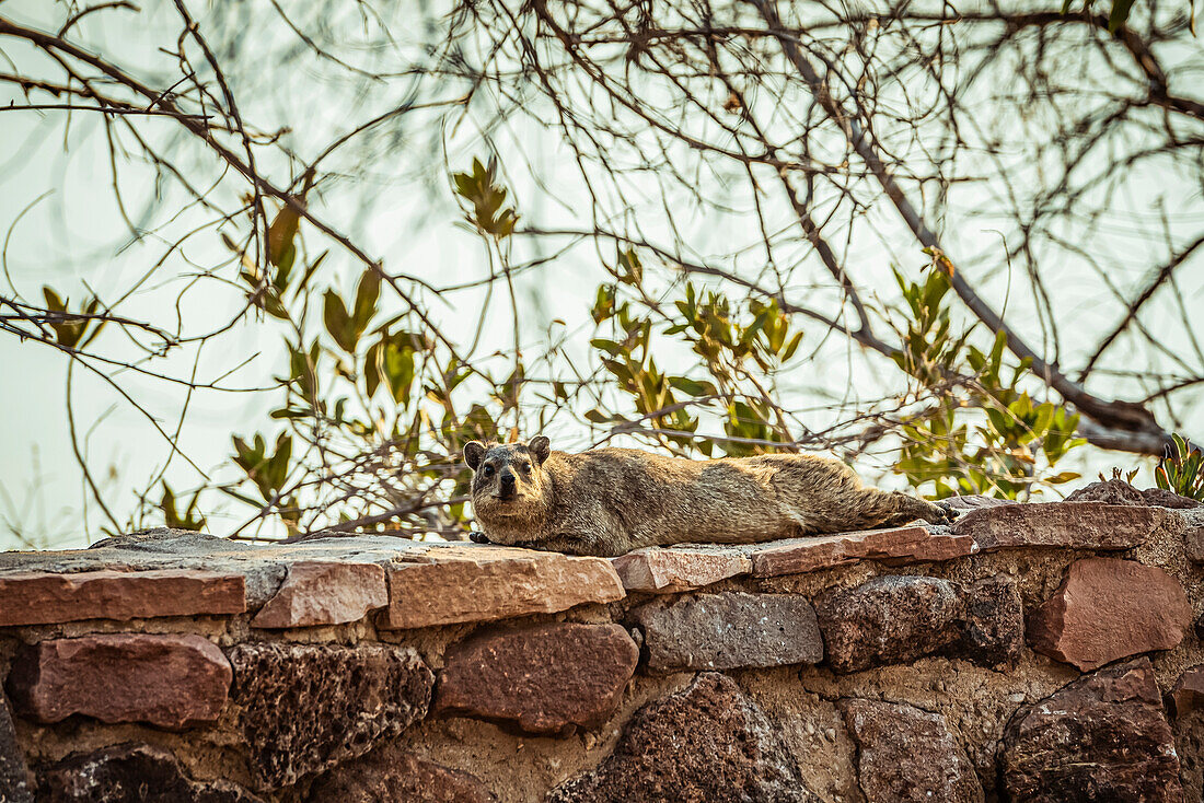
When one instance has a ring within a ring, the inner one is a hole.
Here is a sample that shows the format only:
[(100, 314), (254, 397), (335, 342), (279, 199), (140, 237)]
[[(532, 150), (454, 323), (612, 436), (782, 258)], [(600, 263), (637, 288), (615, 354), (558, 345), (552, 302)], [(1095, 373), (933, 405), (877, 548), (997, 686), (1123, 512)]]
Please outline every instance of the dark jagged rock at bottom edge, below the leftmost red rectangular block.
[(43, 769), (40, 781), (39, 803), (259, 802), (226, 780), (193, 780), (173, 755), (148, 744), (72, 754)]

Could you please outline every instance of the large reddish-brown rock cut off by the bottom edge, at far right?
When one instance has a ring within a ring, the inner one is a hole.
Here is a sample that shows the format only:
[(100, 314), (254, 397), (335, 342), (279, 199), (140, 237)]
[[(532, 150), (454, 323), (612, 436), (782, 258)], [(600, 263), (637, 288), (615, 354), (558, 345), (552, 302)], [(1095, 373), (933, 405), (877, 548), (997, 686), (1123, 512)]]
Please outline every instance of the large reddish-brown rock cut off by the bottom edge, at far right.
[(1099, 669), (1021, 707), (1004, 731), (1015, 803), (1179, 803), (1179, 756), (1147, 659)]

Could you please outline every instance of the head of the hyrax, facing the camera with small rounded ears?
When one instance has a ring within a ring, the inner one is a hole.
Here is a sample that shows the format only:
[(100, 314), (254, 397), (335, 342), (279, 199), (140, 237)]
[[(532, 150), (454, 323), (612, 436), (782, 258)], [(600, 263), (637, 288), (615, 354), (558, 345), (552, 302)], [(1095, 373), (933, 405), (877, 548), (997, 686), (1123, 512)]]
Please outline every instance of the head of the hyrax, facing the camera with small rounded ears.
[(480, 443), (464, 448), (464, 461), (472, 468), (472, 509), (490, 532), (491, 524), (508, 519), (535, 522), (545, 510), (543, 462), (551, 444), (542, 435), (530, 443)]

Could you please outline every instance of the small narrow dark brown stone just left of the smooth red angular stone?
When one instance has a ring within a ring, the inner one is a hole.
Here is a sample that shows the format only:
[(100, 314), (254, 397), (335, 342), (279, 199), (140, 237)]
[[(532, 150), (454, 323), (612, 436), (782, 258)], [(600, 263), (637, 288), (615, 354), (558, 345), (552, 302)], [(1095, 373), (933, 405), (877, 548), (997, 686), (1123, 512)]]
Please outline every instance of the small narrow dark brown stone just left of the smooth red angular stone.
[(949, 653), (974, 663), (1003, 669), (1025, 649), (1025, 608), (1016, 581), (1007, 574), (963, 586), (962, 633)]

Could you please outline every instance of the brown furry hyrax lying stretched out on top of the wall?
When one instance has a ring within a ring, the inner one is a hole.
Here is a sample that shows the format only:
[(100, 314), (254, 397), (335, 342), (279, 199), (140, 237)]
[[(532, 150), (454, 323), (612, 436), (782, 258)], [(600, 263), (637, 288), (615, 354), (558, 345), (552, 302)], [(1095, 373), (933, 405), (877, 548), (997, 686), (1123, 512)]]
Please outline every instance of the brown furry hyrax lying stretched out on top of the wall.
[[(548, 438), (464, 450), (489, 542), (572, 555), (677, 543), (746, 544), (896, 526), (949, 512), (863, 488), (843, 462), (780, 454), (683, 460), (638, 449), (551, 451)], [(513, 477), (513, 490), (503, 478)]]

